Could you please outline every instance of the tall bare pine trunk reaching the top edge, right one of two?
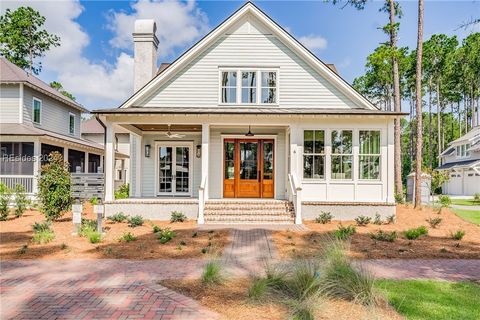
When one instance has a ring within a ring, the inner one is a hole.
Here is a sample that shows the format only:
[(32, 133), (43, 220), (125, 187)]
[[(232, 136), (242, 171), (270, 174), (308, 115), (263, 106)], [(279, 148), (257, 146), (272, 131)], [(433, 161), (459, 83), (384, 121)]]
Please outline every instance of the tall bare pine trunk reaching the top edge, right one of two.
[(423, 54), (423, 0), (418, 0), (418, 36), (417, 36), (417, 66), (416, 66), (416, 105), (417, 105), (417, 159), (415, 162), (415, 208), (422, 204), (422, 54)]

